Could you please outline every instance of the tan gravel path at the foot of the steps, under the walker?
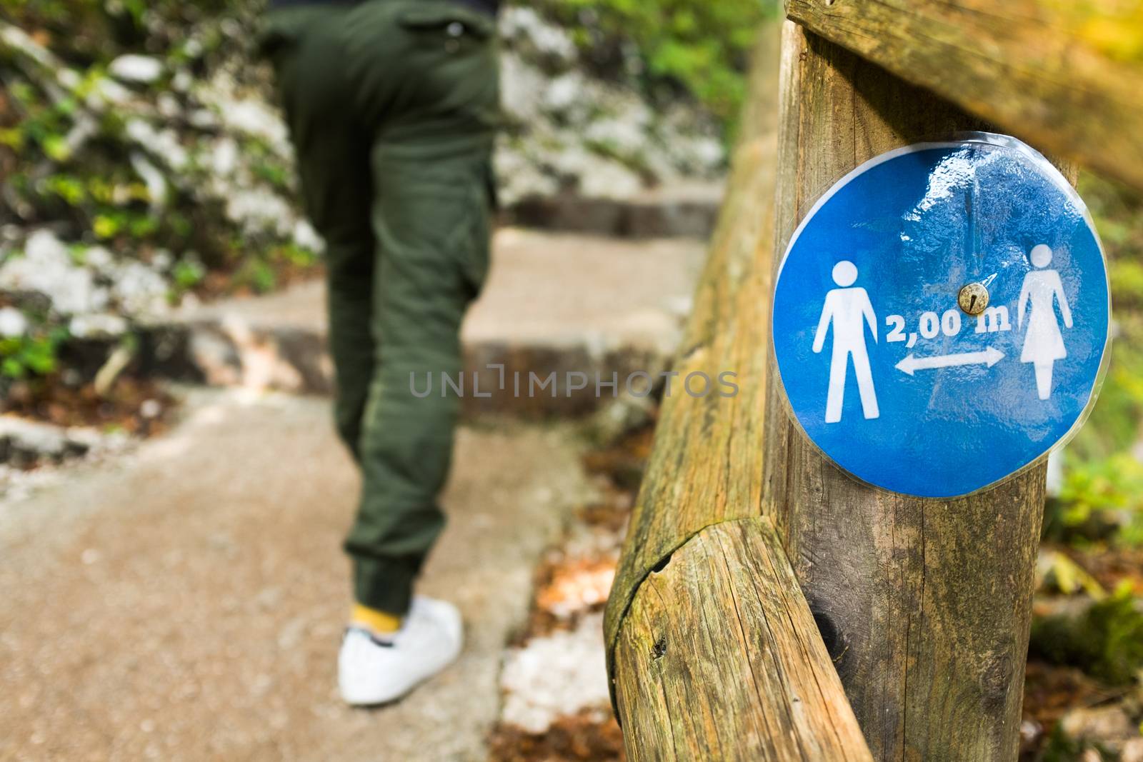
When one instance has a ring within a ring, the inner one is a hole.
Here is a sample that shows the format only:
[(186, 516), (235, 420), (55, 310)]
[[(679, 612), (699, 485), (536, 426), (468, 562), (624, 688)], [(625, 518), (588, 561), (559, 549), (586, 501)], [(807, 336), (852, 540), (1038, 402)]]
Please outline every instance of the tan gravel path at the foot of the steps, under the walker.
[(357, 478), (327, 403), (197, 391), (186, 410), (0, 505), (0, 759), (483, 759), (503, 645), (588, 489), (568, 431), (461, 431), (423, 589), (462, 608), (466, 648), (370, 712), (334, 691)]

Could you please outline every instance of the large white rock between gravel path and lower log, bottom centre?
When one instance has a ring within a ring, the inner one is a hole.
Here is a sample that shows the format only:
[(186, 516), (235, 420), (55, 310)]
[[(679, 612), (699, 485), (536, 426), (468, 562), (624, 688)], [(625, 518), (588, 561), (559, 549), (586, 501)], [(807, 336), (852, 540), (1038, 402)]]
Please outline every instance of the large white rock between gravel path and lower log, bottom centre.
[(542, 733), (561, 716), (604, 708), (610, 700), (602, 615), (584, 617), (573, 632), (534, 637), (504, 663), (503, 720)]

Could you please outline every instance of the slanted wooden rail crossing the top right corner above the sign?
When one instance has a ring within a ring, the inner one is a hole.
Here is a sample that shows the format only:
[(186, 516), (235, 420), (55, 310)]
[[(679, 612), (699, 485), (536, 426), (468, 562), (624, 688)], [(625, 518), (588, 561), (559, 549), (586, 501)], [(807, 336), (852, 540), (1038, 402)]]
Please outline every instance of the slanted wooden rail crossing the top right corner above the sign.
[(786, 13), (1004, 131), (1143, 187), (1138, 0), (788, 0)]

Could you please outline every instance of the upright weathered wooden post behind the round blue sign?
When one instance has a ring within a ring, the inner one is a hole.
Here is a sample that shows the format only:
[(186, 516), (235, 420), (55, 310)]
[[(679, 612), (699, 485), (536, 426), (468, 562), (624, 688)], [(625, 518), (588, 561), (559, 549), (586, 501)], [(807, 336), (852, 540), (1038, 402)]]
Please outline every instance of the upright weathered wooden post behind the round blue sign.
[[(786, 29), (782, 57), (780, 251), (816, 196), (866, 159), (988, 127), (800, 27)], [(873, 755), (1015, 760), (1042, 467), (965, 499), (882, 492), (829, 464), (774, 386), (762, 512), (780, 527)]]

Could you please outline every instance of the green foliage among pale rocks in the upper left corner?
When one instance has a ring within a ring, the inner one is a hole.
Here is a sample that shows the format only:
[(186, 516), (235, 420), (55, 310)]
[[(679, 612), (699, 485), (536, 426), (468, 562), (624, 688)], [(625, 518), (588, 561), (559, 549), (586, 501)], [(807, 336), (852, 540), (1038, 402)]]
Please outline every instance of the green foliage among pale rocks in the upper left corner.
[[(311, 252), (293, 250), (270, 226), (249, 230), (227, 217), (218, 198), (205, 196), (200, 189), (211, 169), (203, 157), (210, 153), (213, 129), (167, 123), (153, 107), (160, 94), (186, 110), (209, 111), (209, 101), (173, 88), (167, 78), (129, 86), (135, 96), (123, 107), (118, 102), (107, 107), (102, 95), (109, 88), (107, 65), (125, 53), (154, 56), (168, 74), (184, 77), (202, 77), (225, 61), (247, 61), (249, 39), (234, 29), (251, 29), (259, 10), (249, 0), (0, 0), (0, 17), (67, 69), (67, 77), (45, 75), (31, 58), (8, 55), (0, 46), (0, 167), (13, 169), (0, 215), (29, 227), (51, 224), (64, 240), (99, 243), (120, 257), (146, 260), (159, 250), (198, 251), (193, 262), (179, 257), (170, 273), (173, 298), (200, 288), (263, 292), (279, 282), (277, 268), (313, 265)], [(241, 85), (258, 88), (264, 81), (254, 72)], [(133, 121), (161, 131), (163, 142), (130, 134)], [(235, 138), (243, 161), (227, 181), (238, 190), (261, 184), (290, 194), (288, 160), (258, 137)], [(185, 163), (163, 154), (171, 142), (186, 151)], [(163, 199), (151, 198), (135, 158), (166, 181)], [(230, 282), (207, 278), (210, 270), (224, 271)]]

